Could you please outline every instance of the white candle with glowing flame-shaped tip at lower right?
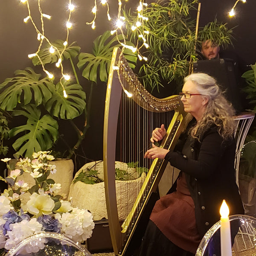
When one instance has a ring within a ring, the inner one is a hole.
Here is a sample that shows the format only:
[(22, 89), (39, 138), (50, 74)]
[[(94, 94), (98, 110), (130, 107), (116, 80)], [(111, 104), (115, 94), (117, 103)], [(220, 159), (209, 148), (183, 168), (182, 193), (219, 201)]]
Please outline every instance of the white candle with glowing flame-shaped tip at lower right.
[(221, 214), (221, 255), (232, 256), (230, 220), (228, 217), (229, 209), (225, 200), (223, 200), (221, 204), (220, 214)]

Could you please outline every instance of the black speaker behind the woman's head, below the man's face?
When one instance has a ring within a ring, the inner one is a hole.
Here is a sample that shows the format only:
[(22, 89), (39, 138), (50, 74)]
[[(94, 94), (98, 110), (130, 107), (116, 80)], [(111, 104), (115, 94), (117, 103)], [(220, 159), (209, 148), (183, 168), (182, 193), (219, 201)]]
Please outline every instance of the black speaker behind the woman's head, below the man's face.
[(236, 112), (242, 111), (239, 93), (239, 77), (232, 59), (211, 59), (194, 62), (194, 72), (207, 73), (216, 79), (224, 91), (226, 99), (232, 103)]

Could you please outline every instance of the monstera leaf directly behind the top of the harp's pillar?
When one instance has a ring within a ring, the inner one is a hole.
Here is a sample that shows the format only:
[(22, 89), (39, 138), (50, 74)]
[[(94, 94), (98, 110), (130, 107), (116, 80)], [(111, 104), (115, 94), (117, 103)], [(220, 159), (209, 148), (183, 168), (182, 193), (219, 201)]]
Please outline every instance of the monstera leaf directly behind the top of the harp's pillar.
[[(118, 38), (122, 40), (121, 35)], [(126, 41), (126, 44), (133, 45), (129, 41)], [(82, 76), (96, 83), (99, 72), (100, 81), (107, 82), (114, 47), (121, 47), (121, 45), (116, 36), (111, 35), (110, 31), (106, 31), (103, 35), (96, 38), (93, 42), (93, 54), (84, 52), (79, 54), (77, 66), (79, 69), (83, 68)], [(133, 53), (130, 49), (125, 49), (124, 55), (130, 67), (134, 68), (137, 61), (136, 53)]]

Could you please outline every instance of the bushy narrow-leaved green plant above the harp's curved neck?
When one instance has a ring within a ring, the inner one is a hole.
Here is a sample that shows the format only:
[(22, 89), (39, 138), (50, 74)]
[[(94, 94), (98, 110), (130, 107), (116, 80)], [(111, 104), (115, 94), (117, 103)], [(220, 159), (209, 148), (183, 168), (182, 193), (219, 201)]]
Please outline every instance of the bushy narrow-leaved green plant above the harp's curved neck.
[[(127, 37), (134, 43), (139, 35), (144, 35), (149, 48), (142, 48), (148, 58), (142, 63), (139, 76), (148, 90), (167, 86), (175, 81), (176, 93), (180, 90), (182, 80), (189, 74), (193, 61), (198, 60), (196, 47), (205, 39), (212, 39), (219, 45), (231, 44), (232, 30), (227, 24), (217, 20), (199, 28), (198, 38), (195, 34), (198, 0), (168, 0), (150, 3), (143, 9), (143, 16), (148, 18), (144, 25), (131, 32), (131, 26), (137, 21), (137, 13), (123, 10), (126, 18)], [(144, 33), (145, 30), (149, 34)], [(173, 90), (175, 91), (175, 90)]]

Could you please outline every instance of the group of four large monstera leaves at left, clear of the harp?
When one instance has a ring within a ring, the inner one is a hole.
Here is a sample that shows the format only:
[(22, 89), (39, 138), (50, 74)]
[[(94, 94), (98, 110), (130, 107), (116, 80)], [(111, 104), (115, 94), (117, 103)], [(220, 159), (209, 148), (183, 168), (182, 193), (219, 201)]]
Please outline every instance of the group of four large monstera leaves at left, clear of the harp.
[[(72, 120), (86, 113), (86, 94), (81, 87), (73, 61), (79, 55), (80, 47), (70, 44), (64, 49), (63, 41), (53, 43), (55, 53), (49, 54), (49, 45), (46, 44), (38, 55), (42, 63), (52, 64), (58, 61), (58, 52), (63, 52), (62, 60), (68, 60), (74, 82), (62, 81), (68, 95), (63, 95), (60, 81), (55, 82), (48, 76), (42, 77), (31, 67), (15, 71), (15, 77), (7, 78), (0, 84), (0, 109), (11, 111), (12, 116), (24, 116), (26, 123), (10, 130), (9, 136), (16, 137), (13, 148), (24, 157), (31, 157), (33, 152), (52, 148), (58, 139), (58, 119)], [(33, 64), (39, 65), (39, 59), (33, 58)], [(55, 66), (55, 65), (54, 65)], [(83, 134), (76, 125), (76, 132), (82, 139)], [(71, 149), (68, 149), (72, 151)], [(73, 152), (73, 151), (72, 151)]]

